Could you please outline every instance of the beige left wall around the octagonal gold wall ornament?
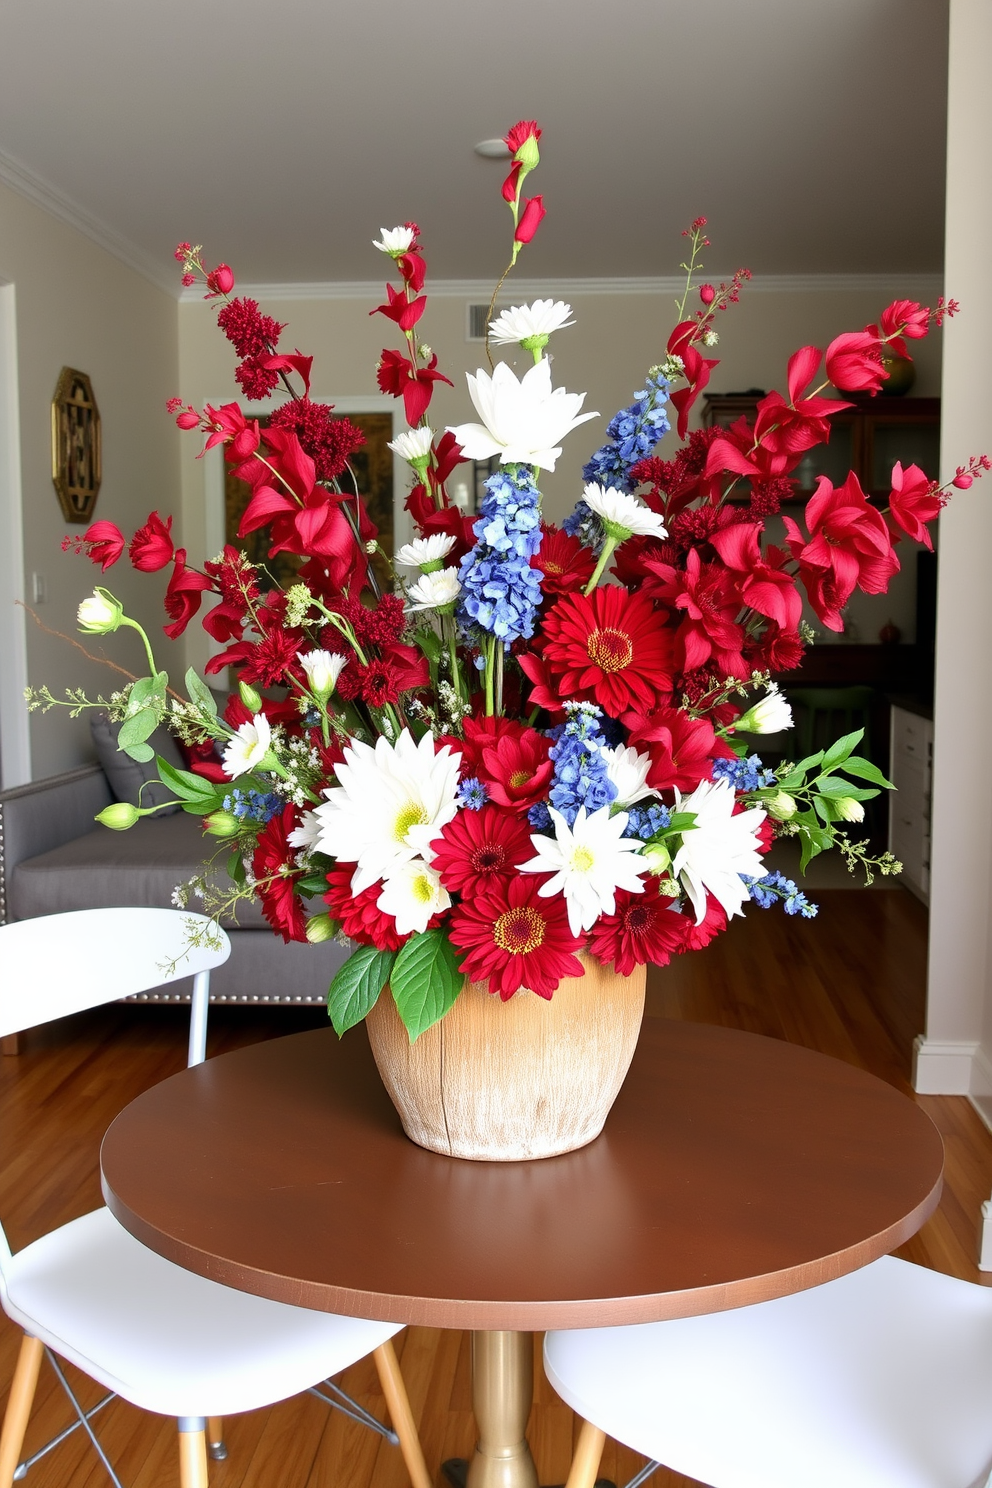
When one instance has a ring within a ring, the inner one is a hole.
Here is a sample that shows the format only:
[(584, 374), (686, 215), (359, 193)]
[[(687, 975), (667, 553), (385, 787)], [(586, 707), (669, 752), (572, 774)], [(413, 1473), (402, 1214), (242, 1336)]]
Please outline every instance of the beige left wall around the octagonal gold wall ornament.
[[(52, 487), (52, 393), (62, 366), (92, 378), (103, 420), (97, 518), (129, 533), (153, 507), (178, 512), (178, 440), (164, 409), (178, 381), (177, 305), (88, 237), (4, 186), (0, 280), (13, 283), (16, 298), (24, 568), (28, 585), (31, 573), (43, 574), (48, 585), (39, 618), (52, 629), (74, 634), (76, 606), (98, 582), (100, 570), (59, 551), (67, 531), (85, 528), (67, 527)], [(161, 576), (135, 574), (123, 562), (110, 570), (106, 583), (131, 615), (152, 629), (161, 626)], [(10, 618), (0, 616), (0, 626), (7, 644)], [(107, 655), (134, 670), (138, 646), (134, 632), (106, 641)], [(57, 693), (65, 686), (92, 692), (113, 686), (107, 668), (88, 662), (31, 620), (27, 661), (30, 682), (46, 682)], [(34, 778), (91, 756), (85, 719), (73, 722), (62, 710), (31, 719)]]

